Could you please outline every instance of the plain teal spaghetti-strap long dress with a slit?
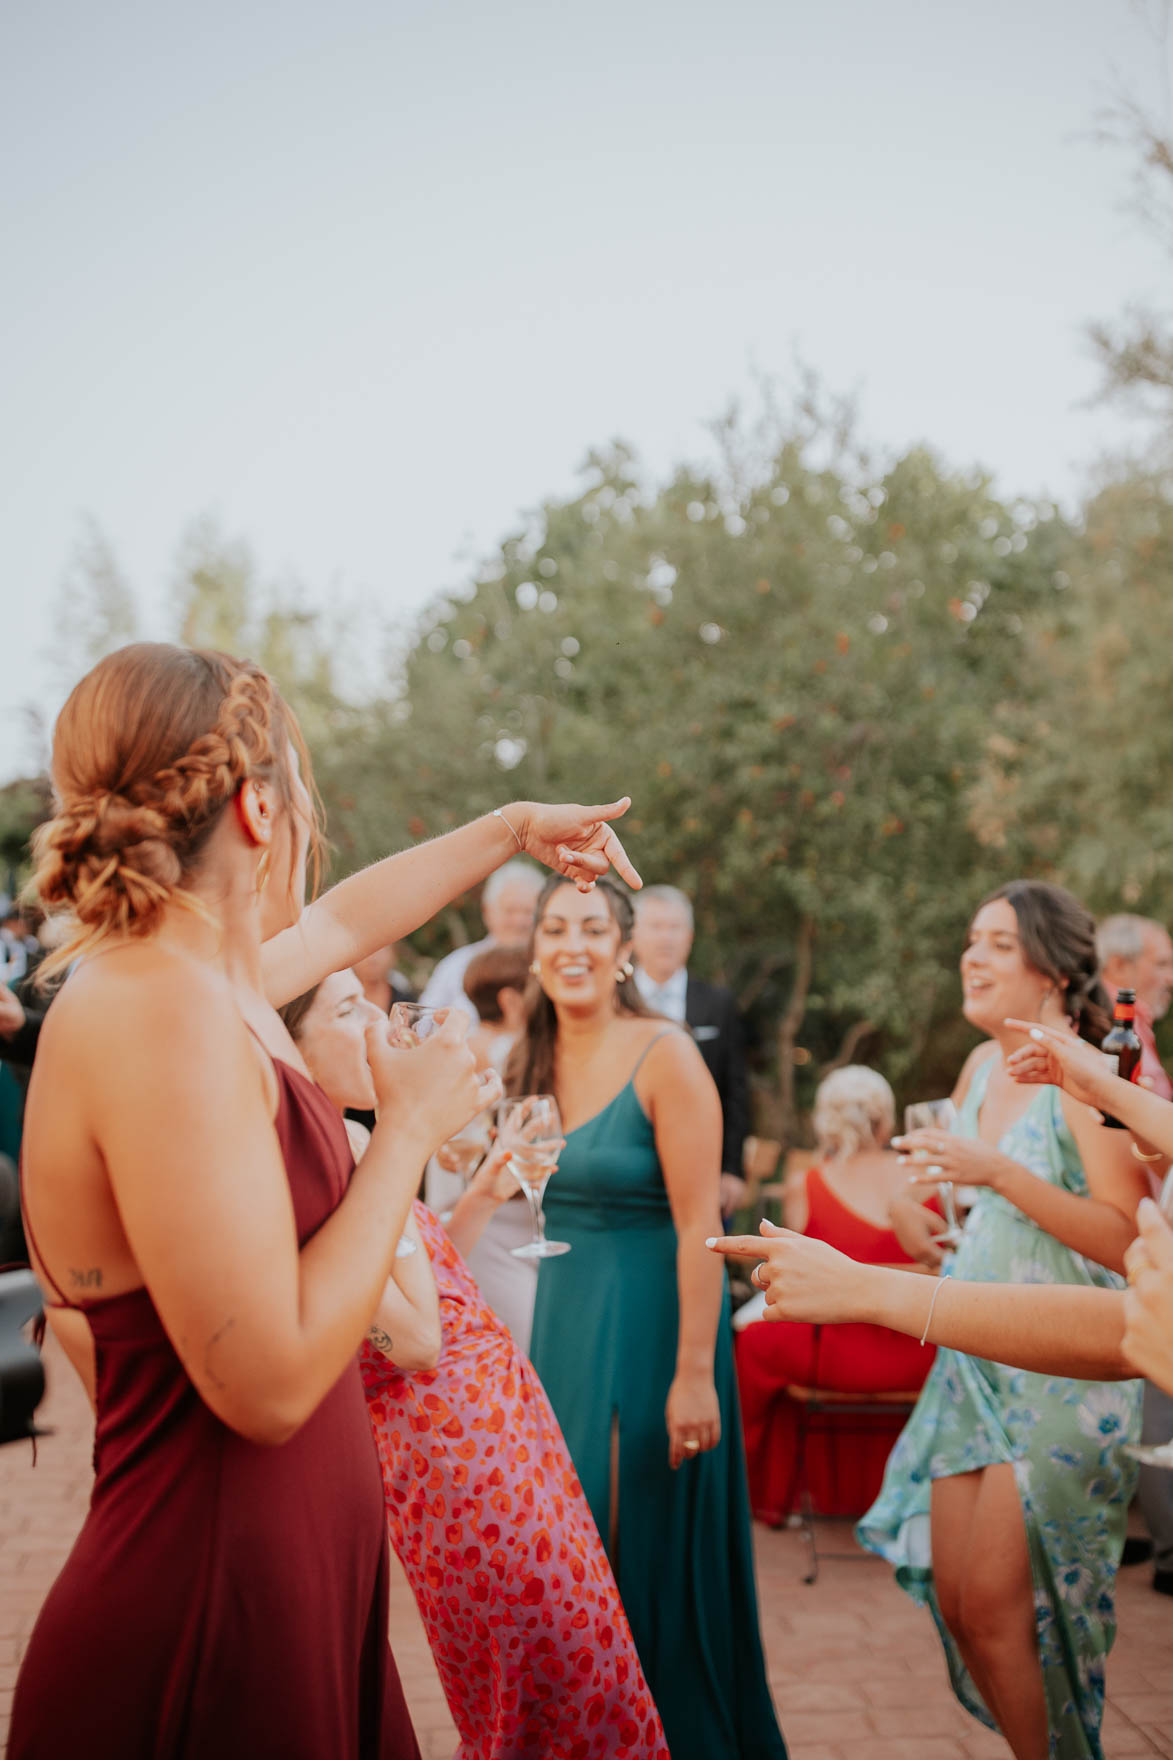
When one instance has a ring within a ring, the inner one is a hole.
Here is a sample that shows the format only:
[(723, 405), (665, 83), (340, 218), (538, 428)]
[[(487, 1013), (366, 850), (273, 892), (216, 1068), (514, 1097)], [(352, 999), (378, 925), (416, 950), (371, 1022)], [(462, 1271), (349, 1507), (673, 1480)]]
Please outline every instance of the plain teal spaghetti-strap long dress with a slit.
[(530, 1355), (608, 1547), (671, 1756), (786, 1760), (757, 1630), (727, 1301), (715, 1353), (720, 1445), (676, 1473), (668, 1466), (676, 1230), (634, 1072), (567, 1133), (544, 1211), (550, 1239), (571, 1251), (542, 1262)]

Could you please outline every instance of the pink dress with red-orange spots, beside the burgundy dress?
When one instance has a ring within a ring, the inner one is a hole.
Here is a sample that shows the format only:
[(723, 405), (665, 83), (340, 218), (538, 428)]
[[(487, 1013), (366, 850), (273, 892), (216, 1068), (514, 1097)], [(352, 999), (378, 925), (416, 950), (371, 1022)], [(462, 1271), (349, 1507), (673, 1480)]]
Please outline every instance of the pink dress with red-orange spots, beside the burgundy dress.
[(372, 1345), (363, 1380), (391, 1544), (428, 1628), (456, 1760), (668, 1760), (558, 1420), (447, 1234), (416, 1204), (440, 1292), (435, 1369)]

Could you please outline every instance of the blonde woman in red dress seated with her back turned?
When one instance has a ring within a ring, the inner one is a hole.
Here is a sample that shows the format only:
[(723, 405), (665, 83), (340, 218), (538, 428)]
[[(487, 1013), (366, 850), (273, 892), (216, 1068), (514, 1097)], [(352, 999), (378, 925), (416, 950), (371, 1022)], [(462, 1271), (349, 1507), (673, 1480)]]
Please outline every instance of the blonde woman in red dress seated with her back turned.
[[(815, 1095), (814, 1128), (821, 1165), (787, 1193), (787, 1228), (830, 1241), (861, 1264), (907, 1269), (912, 1260), (888, 1221), (907, 1176), (888, 1148), (895, 1100), (884, 1077), (859, 1065), (835, 1070)], [(761, 1308), (763, 1301), (750, 1302), (734, 1318), (736, 1364), (750, 1501), (761, 1521), (777, 1526), (798, 1501), (798, 1403), (787, 1387), (914, 1392), (933, 1352), (879, 1325), (770, 1325), (757, 1318)], [(904, 1412), (819, 1419), (807, 1436), (807, 1484), (819, 1515), (868, 1508), (904, 1419)], [(847, 1434), (837, 1433), (842, 1426)]]

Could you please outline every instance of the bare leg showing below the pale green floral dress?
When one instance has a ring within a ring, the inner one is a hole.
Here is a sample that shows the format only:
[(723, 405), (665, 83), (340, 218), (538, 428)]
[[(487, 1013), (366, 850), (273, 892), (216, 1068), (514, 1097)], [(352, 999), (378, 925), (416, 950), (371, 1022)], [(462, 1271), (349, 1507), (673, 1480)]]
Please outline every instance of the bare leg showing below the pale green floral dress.
[[(986, 1681), (990, 1711), (1014, 1760), (1046, 1760), (1046, 1697), (1034, 1617), (1034, 1580), (1014, 1468), (988, 1466), (962, 1573), (962, 1630)], [(986, 1686), (981, 1686), (983, 1698)]]

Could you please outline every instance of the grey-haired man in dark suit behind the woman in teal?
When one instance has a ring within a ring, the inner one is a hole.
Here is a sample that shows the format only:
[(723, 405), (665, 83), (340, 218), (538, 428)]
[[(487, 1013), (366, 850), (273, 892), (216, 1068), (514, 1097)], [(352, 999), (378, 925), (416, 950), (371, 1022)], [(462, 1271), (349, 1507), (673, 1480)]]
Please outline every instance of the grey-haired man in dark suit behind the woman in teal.
[(692, 901), (675, 885), (648, 885), (636, 894), (636, 986), (648, 1008), (692, 1028), (724, 1116), (720, 1211), (731, 1216), (745, 1199), (741, 1149), (749, 1133), (749, 1081), (741, 1021), (733, 991), (689, 975)]

